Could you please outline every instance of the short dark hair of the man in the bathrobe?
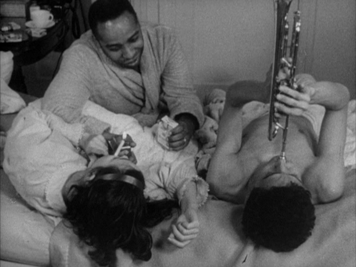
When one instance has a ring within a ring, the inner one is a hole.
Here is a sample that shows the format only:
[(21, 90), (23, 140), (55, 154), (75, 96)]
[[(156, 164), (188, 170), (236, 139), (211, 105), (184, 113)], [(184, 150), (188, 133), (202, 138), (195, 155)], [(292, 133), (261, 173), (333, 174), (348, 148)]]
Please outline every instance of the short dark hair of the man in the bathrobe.
[(89, 26), (96, 38), (98, 38), (97, 25), (108, 20), (120, 17), (125, 11), (134, 16), (137, 23), (137, 14), (128, 0), (96, 0), (89, 7)]

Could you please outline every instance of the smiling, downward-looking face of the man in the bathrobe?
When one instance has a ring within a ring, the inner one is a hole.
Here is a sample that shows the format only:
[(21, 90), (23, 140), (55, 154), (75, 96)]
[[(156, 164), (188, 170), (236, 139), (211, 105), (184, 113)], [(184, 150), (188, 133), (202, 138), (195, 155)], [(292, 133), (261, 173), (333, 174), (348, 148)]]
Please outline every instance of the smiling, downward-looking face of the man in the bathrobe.
[(117, 65), (135, 69), (139, 66), (143, 51), (143, 39), (139, 23), (129, 12), (97, 25), (98, 42), (104, 53)]

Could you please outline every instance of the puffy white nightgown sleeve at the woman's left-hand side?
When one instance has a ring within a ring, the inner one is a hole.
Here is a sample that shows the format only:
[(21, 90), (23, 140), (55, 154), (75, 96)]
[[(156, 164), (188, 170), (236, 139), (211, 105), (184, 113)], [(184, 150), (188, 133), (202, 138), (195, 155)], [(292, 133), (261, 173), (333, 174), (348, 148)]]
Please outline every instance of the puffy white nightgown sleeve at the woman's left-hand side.
[(87, 161), (73, 145), (51, 131), (45, 114), (33, 105), (22, 109), (7, 132), (3, 169), (22, 198), (40, 212), (61, 216), (61, 188)]

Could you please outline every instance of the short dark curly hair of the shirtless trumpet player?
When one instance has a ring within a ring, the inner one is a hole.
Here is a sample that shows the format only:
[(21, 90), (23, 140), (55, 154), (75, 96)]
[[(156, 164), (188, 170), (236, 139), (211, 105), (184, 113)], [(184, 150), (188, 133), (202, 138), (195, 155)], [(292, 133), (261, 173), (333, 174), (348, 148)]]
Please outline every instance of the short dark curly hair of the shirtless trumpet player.
[(311, 194), (291, 183), (271, 188), (256, 187), (244, 207), (242, 229), (256, 245), (275, 252), (289, 252), (312, 234), (315, 209)]

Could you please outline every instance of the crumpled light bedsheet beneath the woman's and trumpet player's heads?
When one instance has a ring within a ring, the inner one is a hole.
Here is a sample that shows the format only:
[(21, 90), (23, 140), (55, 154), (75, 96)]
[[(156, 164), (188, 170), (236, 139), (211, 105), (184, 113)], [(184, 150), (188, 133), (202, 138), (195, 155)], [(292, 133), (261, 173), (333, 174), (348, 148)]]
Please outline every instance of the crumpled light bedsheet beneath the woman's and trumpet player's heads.
[[(209, 200), (199, 213), (200, 231), (188, 246), (179, 249), (167, 242), (171, 220), (151, 229), (154, 240), (149, 262), (133, 261), (117, 251), (117, 267), (355, 267), (355, 170), (347, 174), (341, 199), (316, 205), (312, 236), (299, 248), (275, 253), (248, 241), (241, 229), (242, 205)], [(89, 247), (63, 223), (50, 239), (52, 267), (94, 267)]]

